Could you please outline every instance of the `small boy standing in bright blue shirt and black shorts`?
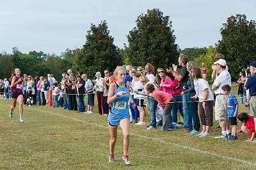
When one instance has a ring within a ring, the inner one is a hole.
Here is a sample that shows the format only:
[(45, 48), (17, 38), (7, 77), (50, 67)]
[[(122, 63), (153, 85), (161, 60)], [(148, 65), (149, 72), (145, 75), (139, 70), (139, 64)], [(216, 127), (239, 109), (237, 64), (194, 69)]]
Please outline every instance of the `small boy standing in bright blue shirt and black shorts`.
[(226, 84), (222, 86), (222, 91), (224, 95), (228, 95), (228, 102), (227, 102), (227, 110), (228, 110), (228, 117), (229, 117), (229, 125), (231, 126), (232, 133), (228, 135), (228, 140), (234, 141), (237, 139), (236, 132), (237, 132), (237, 111), (238, 111), (238, 102), (234, 93), (231, 92), (231, 87)]

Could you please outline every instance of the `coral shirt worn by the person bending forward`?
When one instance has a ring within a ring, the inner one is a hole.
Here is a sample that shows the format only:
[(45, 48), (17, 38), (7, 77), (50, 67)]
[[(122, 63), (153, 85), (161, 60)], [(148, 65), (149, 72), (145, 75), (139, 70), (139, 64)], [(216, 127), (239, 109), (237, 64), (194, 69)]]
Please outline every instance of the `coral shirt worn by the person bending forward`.
[(169, 93), (158, 91), (156, 89), (152, 92), (152, 96), (163, 109), (164, 106), (173, 99), (172, 95)]

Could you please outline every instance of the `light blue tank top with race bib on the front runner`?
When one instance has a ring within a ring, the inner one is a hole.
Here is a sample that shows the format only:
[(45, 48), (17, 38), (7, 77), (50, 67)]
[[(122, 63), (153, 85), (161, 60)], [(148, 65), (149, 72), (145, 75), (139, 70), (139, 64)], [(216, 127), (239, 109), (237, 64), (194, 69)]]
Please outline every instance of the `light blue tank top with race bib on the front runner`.
[(119, 91), (125, 91), (124, 96), (117, 97), (116, 100), (110, 105), (109, 113), (110, 114), (129, 114), (128, 112), (128, 102), (129, 102), (129, 89), (126, 84), (124, 87), (119, 86), (116, 82), (116, 89), (114, 95)]

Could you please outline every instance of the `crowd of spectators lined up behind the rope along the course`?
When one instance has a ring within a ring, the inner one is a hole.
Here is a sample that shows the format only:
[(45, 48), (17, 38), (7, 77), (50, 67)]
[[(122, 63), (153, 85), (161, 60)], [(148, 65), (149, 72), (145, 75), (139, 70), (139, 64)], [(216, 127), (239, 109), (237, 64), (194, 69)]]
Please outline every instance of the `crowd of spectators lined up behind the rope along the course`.
[[(136, 107), (129, 104), (130, 122), (138, 126), (146, 126), (145, 115), (150, 114), (147, 130), (157, 126), (163, 131), (184, 128), (190, 134), (207, 137), (211, 134), (213, 120), (220, 121), (221, 134), (216, 139), (237, 139), (237, 133), (248, 135), (246, 141), (256, 143), (256, 61), (250, 65), (248, 72), (239, 73), (239, 90), (232, 93), (231, 77), (222, 54), (216, 54), (216, 62), (212, 63), (213, 84), (210, 87), (205, 79), (206, 68), (202, 63), (197, 68), (193, 61), (180, 54), (179, 65), (170, 68), (155, 68), (147, 63), (142, 66), (123, 66), (126, 70), (125, 84), (129, 88)], [(22, 71), (22, 70), (21, 70)], [(24, 104), (62, 107), (70, 111), (93, 114), (95, 98), (99, 114), (108, 116), (108, 90), (111, 83), (116, 82), (113, 72), (104, 70), (104, 75), (95, 73), (95, 79), (89, 79), (83, 72), (75, 75), (72, 70), (62, 73), (61, 81), (54, 75), (23, 75)], [(0, 80), (0, 98), (11, 99), (10, 80)], [(87, 95), (87, 105), (84, 97)], [(96, 97), (95, 97), (96, 95)], [(250, 106), (248, 114), (239, 114), (239, 104)], [(214, 109), (213, 109), (214, 108)], [(215, 114), (213, 112), (215, 111)], [(215, 115), (215, 118), (214, 118)], [(237, 119), (242, 127), (237, 130)]]

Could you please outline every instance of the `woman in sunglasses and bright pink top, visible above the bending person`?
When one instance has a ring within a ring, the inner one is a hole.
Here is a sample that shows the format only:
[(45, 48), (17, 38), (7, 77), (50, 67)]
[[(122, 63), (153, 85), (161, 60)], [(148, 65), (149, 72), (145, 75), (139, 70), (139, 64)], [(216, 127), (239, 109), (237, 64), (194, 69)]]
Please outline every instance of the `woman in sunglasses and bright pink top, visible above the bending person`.
[(165, 74), (163, 68), (157, 68), (156, 82), (161, 91), (174, 95), (173, 88), (175, 84), (172, 79)]

